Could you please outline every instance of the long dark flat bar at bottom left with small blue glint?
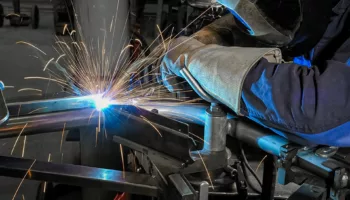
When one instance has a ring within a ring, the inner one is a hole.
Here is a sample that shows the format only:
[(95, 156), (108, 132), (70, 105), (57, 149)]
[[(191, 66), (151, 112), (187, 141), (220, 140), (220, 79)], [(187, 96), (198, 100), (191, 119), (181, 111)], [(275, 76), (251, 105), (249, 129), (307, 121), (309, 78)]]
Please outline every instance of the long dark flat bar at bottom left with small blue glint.
[[(33, 164), (34, 163), (34, 164)], [(30, 168), (30, 166), (32, 166)], [(0, 156), (0, 175), (157, 197), (161, 192), (149, 175), (78, 165), (53, 164)]]

